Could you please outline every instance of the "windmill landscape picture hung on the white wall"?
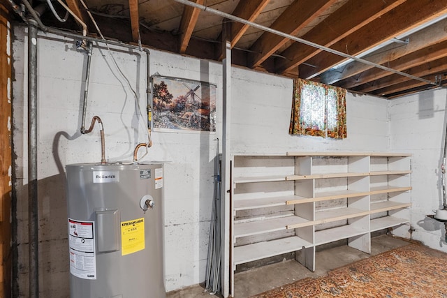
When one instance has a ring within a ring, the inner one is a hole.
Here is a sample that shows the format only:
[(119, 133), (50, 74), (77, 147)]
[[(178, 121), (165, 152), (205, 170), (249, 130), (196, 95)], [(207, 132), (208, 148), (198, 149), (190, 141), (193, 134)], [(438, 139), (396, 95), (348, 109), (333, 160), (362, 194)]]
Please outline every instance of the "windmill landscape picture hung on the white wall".
[(216, 86), (176, 77), (152, 77), (154, 128), (216, 131)]

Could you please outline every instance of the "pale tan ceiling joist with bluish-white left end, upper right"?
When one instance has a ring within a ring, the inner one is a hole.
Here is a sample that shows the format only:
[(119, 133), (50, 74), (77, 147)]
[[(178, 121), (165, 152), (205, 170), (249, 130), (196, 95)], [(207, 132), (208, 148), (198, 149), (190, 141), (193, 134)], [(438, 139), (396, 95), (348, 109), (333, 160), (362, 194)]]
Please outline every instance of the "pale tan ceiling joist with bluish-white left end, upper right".
[[(432, 24), (430, 27), (407, 36), (409, 43), (404, 46), (397, 47), (395, 43), (392, 43), (381, 48), (380, 53), (369, 54), (364, 58), (376, 64), (388, 63), (388, 61), (404, 57), (412, 52), (447, 40), (447, 32), (445, 28), (447, 28), (447, 20), (441, 20), (436, 24)], [(344, 66), (342, 70), (326, 71), (321, 75), (321, 82), (324, 82), (325, 84), (334, 84), (340, 80), (358, 75), (369, 68), (372, 68), (372, 66), (353, 61)]]

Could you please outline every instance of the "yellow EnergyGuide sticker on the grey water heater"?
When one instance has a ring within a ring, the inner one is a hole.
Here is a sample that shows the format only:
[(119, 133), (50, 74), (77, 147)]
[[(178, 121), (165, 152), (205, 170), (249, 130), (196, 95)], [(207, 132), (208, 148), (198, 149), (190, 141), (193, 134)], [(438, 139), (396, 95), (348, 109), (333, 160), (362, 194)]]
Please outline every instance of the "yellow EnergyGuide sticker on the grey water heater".
[(121, 254), (129, 255), (145, 249), (145, 218), (121, 222)]

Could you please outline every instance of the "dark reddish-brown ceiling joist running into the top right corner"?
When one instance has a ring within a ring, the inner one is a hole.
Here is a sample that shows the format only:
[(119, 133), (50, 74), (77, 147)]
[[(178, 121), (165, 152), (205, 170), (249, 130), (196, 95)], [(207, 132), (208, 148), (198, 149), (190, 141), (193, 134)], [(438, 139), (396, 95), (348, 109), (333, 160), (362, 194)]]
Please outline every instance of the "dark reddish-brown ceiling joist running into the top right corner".
[[(356, 56), (445, 13), (447, 0), (407, 0), (379, 19), (339, 40), (331, 48)], [(317, 66), (316, 68), (300, 65), (300, 77), (315, 77), (345, 60), (346, 58), (339, 55), (320, 53), (306, 61), (307, 64)]]

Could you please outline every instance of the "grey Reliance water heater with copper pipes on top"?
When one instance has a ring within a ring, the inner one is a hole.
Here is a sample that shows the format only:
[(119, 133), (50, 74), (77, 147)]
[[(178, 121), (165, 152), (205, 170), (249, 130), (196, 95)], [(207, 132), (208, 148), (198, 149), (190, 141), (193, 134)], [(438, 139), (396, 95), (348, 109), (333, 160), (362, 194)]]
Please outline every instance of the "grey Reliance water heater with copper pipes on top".
[(71, 298), (163, 298), (163, 165), (67, 165)]

